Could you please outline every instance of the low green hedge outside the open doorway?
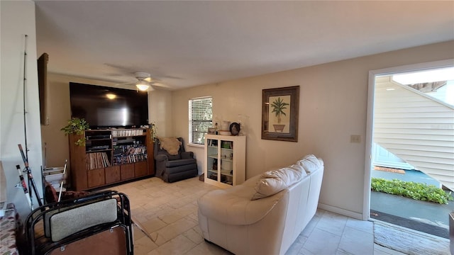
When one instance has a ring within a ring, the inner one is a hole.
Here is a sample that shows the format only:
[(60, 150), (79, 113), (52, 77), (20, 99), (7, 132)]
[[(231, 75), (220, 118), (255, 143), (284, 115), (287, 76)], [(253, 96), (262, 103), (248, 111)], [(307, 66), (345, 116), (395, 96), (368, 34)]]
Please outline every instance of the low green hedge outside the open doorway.
[(450, 192), (443, 191), (443, 189), (433, 185), (414, 183), (413, 181), (400, 181), (398, 179), (389, 181), (382, 178), (372, 178), (370, 188), (372, 191), (434, 203), (448, 204), (449, 200), (453, 200)]

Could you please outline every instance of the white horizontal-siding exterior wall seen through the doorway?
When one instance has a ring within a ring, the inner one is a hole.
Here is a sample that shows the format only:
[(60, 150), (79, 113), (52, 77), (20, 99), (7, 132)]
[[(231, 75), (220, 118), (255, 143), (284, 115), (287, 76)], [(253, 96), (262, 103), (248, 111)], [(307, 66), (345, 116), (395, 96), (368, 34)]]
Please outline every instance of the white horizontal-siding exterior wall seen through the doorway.
[(375, 82), (374, 142), (454, 191), (454, 108), (392, 81)]

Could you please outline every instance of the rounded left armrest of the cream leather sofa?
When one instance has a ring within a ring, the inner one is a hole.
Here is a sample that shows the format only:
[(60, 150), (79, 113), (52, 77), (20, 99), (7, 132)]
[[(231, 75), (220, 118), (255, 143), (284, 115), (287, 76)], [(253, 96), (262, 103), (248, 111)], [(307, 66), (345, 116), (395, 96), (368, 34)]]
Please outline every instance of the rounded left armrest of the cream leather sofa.
[[(251, 188), (241, 186), (234, 192), (231, 192), (231, 188), (206, 193), (199, 198), (199, 212), (205, 217), (227, 225), (250, 225), (265, 217), (289, 192), (285, 189), (274, 196), (250, 200), (245, 198), (244, 194), (255, 193), (254, 188), (250, 191)], [(236, 193), (243, 193), (243, 196), (238, 196)]]

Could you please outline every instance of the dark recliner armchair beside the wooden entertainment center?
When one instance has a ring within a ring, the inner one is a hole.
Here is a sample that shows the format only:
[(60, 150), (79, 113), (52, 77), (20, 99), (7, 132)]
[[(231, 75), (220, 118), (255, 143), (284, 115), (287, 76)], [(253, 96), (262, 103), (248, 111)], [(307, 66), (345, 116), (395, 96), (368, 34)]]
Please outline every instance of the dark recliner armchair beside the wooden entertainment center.
[(177, 140), (181, 142), (177, 154), (170, 154), (162, 148), (161, 142), (164, 140), (155, 140), (156, 177), (168, 183), (192, 178), (199, 174), (194, 152), (184, 151), (182, 137), (178, 137)]

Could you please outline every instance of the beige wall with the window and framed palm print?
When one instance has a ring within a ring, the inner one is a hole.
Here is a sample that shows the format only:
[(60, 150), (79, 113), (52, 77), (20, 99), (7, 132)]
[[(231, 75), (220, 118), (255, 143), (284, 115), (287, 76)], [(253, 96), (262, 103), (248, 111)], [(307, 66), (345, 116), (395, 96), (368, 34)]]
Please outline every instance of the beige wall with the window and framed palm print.
[[(238, 120), (238, 114), (249, 117), (247, 178), (315, 154), (326, 166), (321, 205), (362, 218), (369, 71), (450, 58), (454, 58), (454, 41), (174, 91), (173, 135), (187, 140), (189, 98), (213, 96), (215, 116), (226, 120)], [(262, 89), (297, 85), (298, 142), (262, 140)], [(350, 135), (360, 135), (361, 143), (350, 143)], [(196, 153), (201, 169), (203, 148), (188, 149)]]

